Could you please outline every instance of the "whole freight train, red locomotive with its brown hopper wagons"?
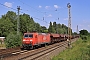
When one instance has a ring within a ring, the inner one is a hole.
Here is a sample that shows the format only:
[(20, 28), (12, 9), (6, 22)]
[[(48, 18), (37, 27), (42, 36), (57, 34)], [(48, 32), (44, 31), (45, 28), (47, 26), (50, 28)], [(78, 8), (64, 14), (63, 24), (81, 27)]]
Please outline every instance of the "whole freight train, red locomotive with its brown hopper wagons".
[[(71, 39), (78, 38), (79, 35), (69, 36)], [(56, 42), (61, 42), (67, 40), (67, 34), (54, 34), (54, 33), (24, 33), (22, 39), (22, 48), (33, 49), (36, 46), (53, 44)]]

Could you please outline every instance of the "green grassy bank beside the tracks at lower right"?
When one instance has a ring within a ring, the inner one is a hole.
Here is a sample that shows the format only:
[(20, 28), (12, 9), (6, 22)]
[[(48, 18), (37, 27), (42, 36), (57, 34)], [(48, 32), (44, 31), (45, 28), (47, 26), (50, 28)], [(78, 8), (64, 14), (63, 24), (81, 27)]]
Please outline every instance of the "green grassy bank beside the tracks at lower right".
[(71, 49), (60, 52), (58, 56), (54, 56), (52, 60), (90, 60), (90, 38), (82, 40), (79, 38), (72, 44)]

